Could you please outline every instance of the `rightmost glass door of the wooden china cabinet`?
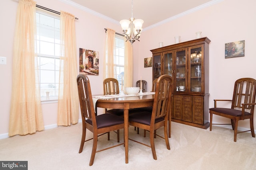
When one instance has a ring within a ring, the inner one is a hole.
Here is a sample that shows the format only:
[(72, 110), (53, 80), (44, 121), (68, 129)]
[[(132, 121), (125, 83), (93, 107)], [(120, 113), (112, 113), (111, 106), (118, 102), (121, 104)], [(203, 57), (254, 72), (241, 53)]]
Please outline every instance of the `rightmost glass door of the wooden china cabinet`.
[(202, 46), (194, 46), (189, 48), (189, 56), (190, 56), (190, 92), (202, 92)]

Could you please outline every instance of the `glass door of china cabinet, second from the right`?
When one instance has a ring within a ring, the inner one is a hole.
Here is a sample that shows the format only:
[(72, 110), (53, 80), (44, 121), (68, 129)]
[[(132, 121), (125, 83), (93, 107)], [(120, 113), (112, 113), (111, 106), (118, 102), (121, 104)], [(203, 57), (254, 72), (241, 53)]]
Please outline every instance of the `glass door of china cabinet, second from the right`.
[(186, 91), (186, 79), (187, 79), (187, 66), (186, 66), (186, 49), (180, 49), (176, 51), (175, 56), (175, 76), (174, 83), (176, 85), (176, 92), (185, 92)]

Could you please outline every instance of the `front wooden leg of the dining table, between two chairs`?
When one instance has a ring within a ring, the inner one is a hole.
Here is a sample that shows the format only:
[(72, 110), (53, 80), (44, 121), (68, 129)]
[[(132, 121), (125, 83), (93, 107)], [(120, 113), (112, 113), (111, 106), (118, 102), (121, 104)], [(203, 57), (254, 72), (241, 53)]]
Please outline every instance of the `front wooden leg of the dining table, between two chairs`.
[(128, 131), (129, 131), (129, 103), (124, 104), (124, 147), (125, 147), (125, 163), (128, 164)]

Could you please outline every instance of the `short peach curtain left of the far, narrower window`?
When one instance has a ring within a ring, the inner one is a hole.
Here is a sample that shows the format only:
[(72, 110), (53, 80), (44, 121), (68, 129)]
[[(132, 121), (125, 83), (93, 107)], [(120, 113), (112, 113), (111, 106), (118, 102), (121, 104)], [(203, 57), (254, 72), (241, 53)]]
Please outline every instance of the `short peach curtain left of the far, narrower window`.
[(116, 53), (116, 31), (108, 28), (106, 31), (105, 53), (104, 53), (104, 79), (114, 77), (114, 53)]

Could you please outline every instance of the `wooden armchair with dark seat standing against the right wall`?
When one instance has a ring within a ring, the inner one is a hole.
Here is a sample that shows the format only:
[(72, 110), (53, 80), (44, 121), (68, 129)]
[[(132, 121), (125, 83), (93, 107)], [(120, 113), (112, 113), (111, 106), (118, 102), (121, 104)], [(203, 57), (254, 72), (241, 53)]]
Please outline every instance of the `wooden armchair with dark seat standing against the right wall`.
[[(240, 78), (236, 80), (232, 100), (214, 100), (214, 108), (210, 108), (210, 131), (212, 125), (232, 125), (234, 130), (234, 142), (236, 142), (238, 121), (250, 119), (252, 137), (255, 137), (253, 127), (253, 114), (255, 106), (256, 80), (253, 78)], [(217, 107), (217, 102), (231, 102), (231, 108)], [(212, 115), (219, 115), (231, 120), (231, 124), (212, 123)]]

